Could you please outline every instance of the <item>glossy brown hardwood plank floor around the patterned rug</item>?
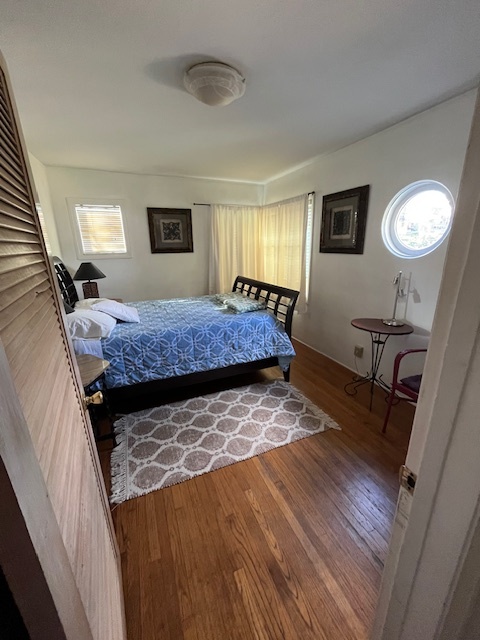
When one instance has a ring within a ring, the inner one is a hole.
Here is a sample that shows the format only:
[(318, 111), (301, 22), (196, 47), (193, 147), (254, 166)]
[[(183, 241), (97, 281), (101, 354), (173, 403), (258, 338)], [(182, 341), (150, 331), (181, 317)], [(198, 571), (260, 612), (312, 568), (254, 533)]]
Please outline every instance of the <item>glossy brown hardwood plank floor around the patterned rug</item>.
[(295, 347), (292, 383), (342, 431), (116, 507), (130, 640), (368, 637), (413, 408), (382, 435), (384, 394), (370, 413), (351, 372)]

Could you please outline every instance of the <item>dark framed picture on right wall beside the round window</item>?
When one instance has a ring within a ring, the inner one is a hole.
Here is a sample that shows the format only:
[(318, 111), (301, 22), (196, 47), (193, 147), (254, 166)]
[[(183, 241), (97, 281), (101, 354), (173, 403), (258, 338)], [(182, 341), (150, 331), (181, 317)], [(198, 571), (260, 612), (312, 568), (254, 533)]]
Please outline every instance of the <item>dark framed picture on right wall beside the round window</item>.
[(323, 196), (322, 253), (363, 253), (370, 185)]

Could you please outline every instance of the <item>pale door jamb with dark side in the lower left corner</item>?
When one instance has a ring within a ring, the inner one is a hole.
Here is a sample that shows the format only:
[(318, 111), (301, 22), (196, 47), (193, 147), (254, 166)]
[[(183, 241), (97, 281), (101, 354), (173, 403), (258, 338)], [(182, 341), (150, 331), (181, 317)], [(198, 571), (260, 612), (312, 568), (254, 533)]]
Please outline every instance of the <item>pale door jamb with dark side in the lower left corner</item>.
[(0, 564), (33, 640), (92, 638), (0, 341)]

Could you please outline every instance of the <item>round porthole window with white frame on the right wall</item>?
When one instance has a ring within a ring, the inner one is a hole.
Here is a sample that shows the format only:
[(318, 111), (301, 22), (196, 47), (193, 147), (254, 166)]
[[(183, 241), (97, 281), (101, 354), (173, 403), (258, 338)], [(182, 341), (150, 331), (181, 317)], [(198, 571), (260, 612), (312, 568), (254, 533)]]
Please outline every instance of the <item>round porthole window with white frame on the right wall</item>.
[(400, 258), (419, 258), (436, 249), (452, 225), (453, 197), (440, 182), (420, 180), (402, 189), (382, 222), (387, 249)]

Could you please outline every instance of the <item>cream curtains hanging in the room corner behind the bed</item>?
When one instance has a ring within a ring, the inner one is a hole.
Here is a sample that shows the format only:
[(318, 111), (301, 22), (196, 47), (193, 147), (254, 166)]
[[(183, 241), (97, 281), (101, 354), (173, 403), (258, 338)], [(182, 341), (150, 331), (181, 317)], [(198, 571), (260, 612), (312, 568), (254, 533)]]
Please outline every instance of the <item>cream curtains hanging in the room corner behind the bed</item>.
[(212, 205), (210, 292), (232, 288), (237, 275), (300, 291), (306, 306), (306, 195), (264, 207)]

